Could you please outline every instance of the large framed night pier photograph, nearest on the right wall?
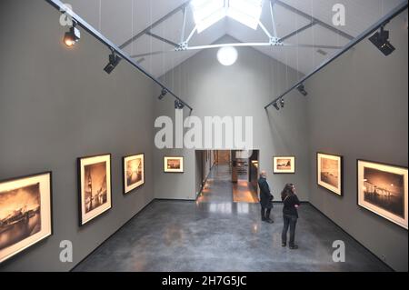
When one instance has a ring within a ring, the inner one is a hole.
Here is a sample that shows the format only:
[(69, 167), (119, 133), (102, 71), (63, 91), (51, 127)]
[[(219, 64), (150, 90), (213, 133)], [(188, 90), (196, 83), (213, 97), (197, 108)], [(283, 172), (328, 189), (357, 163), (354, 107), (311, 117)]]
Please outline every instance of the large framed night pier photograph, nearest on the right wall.
[(407, 168), (357, 161), (358, 205), (407, 229)]

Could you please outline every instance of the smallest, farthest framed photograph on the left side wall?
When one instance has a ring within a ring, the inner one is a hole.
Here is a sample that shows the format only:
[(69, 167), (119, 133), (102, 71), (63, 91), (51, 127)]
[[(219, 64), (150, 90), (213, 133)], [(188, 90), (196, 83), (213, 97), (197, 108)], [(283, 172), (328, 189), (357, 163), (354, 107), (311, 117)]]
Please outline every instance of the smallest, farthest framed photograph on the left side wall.
[(145, 155), (130, 155), (123, 158), (124, 194), (145, 184)]

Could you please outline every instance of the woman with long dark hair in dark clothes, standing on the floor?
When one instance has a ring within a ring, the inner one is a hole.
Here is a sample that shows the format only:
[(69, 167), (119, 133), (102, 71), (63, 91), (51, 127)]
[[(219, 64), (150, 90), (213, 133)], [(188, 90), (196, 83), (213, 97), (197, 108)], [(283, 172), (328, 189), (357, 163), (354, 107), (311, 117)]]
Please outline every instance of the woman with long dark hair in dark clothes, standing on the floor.
[(295, 239), (295, 225), (298, 219), (298, 206), (300, 206), (300, 201), (297, 195), (295, 195), (295, 187), (293, 184), (285, 185), (283, 192), (281, 193), (281, 199), (284, 203), (283, 208), (283, 218), (284, 218), (284, 228), (282, 234), (283, 246), (287, 245), (287, 232), (290, 228), (290, 249), (298, 249), (298, 245), (294, 244)]

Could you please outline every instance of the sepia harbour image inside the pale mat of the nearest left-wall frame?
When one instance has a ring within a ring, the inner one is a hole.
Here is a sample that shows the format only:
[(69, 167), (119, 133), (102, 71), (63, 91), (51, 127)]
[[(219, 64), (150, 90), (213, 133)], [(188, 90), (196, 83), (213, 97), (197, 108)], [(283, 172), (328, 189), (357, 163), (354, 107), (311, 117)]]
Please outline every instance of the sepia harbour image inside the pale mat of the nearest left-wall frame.
[(0, 192), (0, 250), (40, 231), (39, 183)]

